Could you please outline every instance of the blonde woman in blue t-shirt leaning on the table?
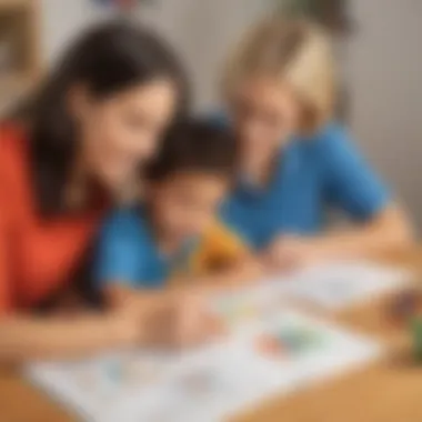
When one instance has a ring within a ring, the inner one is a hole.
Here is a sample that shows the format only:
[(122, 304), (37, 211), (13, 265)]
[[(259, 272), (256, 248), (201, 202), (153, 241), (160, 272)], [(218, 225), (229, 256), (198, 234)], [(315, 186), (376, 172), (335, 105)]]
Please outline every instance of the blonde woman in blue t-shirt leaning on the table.
[[(224, 80), (242, 143), (242, 178), (227, 220), (277, 267), (371, 258), (405, 248), (406, 217), (332, 122), (333, 56), (326, 34), (302, 20), (260, 23), (232, 56)], [(323, 232), (334, 207), (354, 222)]]

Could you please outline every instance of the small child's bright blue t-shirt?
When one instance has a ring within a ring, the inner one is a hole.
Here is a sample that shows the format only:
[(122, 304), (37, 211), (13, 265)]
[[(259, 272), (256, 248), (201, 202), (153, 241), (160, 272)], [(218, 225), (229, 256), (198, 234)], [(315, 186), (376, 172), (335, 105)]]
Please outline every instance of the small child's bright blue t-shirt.
[(192, 250), (192, 242), (187, 242), (174, 255), (164, 255), (143, 208), (117, 210), (100, 231), (94, 260), (96, 284), (101, 288), (108, 282), (120, 282), (132, 288), (161, 288), (175, 268), (181, 270), (188, 264)]

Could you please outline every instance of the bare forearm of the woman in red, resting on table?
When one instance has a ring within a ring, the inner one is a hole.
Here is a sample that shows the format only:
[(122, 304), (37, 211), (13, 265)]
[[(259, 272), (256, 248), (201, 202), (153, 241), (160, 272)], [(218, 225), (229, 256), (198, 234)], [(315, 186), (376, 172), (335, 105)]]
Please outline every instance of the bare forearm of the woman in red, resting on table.
[(0, 361), (6, 362), (76, 358), (132, 341), (132, 333), (105, 315), (0, 320)]

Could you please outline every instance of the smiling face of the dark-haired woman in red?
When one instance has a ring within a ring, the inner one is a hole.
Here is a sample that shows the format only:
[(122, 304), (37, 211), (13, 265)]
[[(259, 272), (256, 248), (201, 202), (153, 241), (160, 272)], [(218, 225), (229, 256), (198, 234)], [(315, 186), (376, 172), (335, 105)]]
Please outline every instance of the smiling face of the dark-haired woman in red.
[(96, 101), (76, 90), (82, 165), (110, 189), (121, 188), (160, 145), (177, 105), (177, 89), (158, 79)]

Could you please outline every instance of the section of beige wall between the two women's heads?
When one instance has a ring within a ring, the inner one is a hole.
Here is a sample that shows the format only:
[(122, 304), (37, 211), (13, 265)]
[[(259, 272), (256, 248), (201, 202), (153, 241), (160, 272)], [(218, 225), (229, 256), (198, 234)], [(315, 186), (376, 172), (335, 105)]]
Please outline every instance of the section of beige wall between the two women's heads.
[[(219, 71), (228, 49), (272, 0), (159, 0), (147, 21), (159, 28), (184, 59), (197, 105), (218, 101)], [(140, 13), (142, 16), (142, 13)]]

